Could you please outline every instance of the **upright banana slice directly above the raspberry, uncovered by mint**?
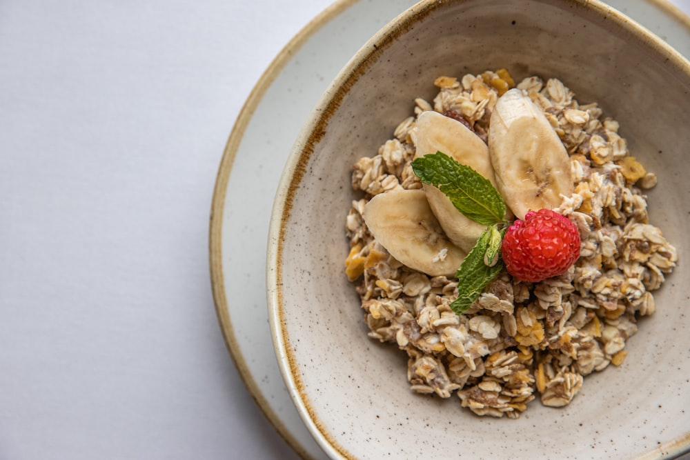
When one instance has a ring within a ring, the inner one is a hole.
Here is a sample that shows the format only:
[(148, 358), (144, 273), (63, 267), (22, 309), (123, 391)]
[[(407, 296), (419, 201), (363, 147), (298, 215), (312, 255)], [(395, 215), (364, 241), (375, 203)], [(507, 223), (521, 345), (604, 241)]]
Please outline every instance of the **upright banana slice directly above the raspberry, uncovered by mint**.
[(516, 88), (491, 114), (489, 154), (496, 186), (515, 216), (560, 206), (574, 190), (570, 159), (542, 111)]

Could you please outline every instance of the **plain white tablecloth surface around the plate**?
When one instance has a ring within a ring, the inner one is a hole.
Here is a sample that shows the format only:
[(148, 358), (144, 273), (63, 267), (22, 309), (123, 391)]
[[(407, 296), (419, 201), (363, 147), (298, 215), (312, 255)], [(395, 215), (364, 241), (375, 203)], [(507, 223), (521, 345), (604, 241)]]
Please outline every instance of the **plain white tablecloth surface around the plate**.
[(226, 350), (208, 217), (242, 104), (330, 3), (0, 2), (0, 459), (296, 458)]

